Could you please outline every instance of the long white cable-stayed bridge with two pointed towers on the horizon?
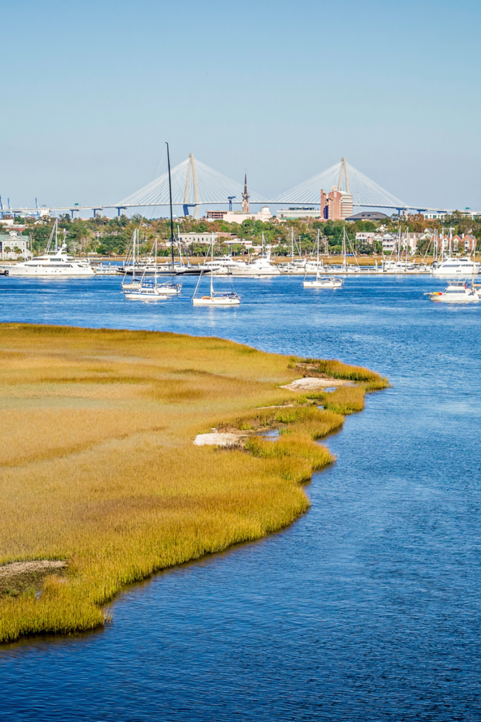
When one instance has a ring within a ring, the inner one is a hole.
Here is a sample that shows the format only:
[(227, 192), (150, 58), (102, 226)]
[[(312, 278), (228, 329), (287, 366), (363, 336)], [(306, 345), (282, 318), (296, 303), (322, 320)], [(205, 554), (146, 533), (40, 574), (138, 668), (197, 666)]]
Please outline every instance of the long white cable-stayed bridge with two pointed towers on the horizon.
[[(198, 217), (200, 206), (221, 206), (241, 204), (244, 188), (237, 181), (233, 181), (218, 170), (210, 168), (200, 160), (196, 160), (190, 154), (185, 160), (175, 165), (171, 170), (172, 179), (172, 205), (182, 206), (183, 214), (190, 214), (193, 208), (193, 216)], [(335, 163), (327, 170), (314, 175), (309, 180), (294, 186), (285, 193), (280, 193), (272, 199), (267, 199), (255, 191), (249, 192), (249, 201), (252, 204), (275, 204), (275, 205), (317, 205), (320, 204), (321, 190), (329, 192), (332, 186), (339, 190), (350, 193), (353, 196), (353, 206), (366, 208), (386, 208), (397, 210), (418, 210), (421, 211), (444, 211), (452, 212), (452, 209), (428, 208), (427, 206), (412, 206), (394, 196), (378, 183), (371, 181), (367, 175), (361, 173), (350, 165), (345, 158)], [(152, 209), (169, 206), (169, 175), (163, 173), (159, 178), (147, 183), (143, 188), (131, 193), (121, 201), (112, 204), (92, 204), (71, 206), (49, 206), (48, 210), (56, 212), (70, 212), (74, 217), (75, 212), (91, 209), (95, 214), (105, 209), (116, 209), (118, 215), (128, 209)], [(0, 214), (3, 213), (39, 213), (41, 209), (35, 208), (14, 208), (8, 209), (1, 206)]]

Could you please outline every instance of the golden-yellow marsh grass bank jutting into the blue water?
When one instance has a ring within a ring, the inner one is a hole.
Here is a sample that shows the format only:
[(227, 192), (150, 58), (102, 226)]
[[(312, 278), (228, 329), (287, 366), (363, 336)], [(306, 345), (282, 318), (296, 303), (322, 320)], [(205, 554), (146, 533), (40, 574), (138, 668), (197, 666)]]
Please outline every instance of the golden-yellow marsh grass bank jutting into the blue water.
[[(129, 583), (291, 524), (333, 461), (316, 440), (387, 386), (213, 337), (4, 323), (0, 339), (0, 565), (68, 560), (0, 595), (3, 642), (103, 625)], [(354, 385), (281, 388), (304, 375)], [(213, 427), (247, 441), (195, 447)]]

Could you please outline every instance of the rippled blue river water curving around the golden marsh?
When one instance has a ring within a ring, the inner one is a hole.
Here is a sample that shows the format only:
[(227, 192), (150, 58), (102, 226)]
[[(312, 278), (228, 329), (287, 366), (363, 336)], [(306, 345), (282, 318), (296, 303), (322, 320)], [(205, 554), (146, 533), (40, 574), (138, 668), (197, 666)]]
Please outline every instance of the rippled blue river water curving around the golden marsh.
[(229, 309), (119, 283), (0, 279), (1, 318), (215, 334), (393, 387), (327, 440), (289, 529), (126, 589), (104, 630), (1, 648), (0, 719), (480, 720), (481, 304), (423, 277), (243, 279)]

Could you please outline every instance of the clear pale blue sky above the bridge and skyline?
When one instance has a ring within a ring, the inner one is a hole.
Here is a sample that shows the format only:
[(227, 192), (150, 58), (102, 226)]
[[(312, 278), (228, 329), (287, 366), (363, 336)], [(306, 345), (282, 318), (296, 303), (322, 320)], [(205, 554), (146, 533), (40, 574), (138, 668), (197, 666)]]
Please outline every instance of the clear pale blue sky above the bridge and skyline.
[(168, 140), (265, 197), (345, 156), (407, 204), (481, 210), (472, 0), (0, 3), (3, 201), (107, 204)]

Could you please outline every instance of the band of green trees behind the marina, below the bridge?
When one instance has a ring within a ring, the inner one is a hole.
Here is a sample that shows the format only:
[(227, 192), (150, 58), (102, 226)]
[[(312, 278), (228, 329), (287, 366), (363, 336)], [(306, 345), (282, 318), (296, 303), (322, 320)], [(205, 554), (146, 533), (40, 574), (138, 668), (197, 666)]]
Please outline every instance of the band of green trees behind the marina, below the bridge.
[[(54, 219), (45, 217), (36, 222), (33, 218), (17, 217), (16, 222), (26, 224), (27, 228), (23, 231), (23, 235), (30, 236), (32, 241), (32, 251), (34, 253), (42, 253), (48, 243), (50, 232), (53, 228)], [(247, 219), (242, 224), (227, 223), (222, 220), (213, 222), (205, 219), (193, 219), (191, 217), (179, 218), (175, 222), (175, 231), (177, 226), (180, 232), (188, 233), (206, 233), (206, 232), (224, 232), (231, 233), (235, 238), (240, 240), (252, 240), (252, 245), (260, 245), (262, 235), (265, 242), (273, 247), (273, 255), (289, 256), (291, 253), (291, 229), (294, 230), (296, 245), (294, 250), (297, 255), (298, 249), (304, 255), (312, 253), (316, 246), (317, 232), (321, 235), (321, 252), (326, 250), (329, 253), (341, 253), (343, 247), (343, 232), (346, 234), (356, 249), (357, 253), (381, 253), (381, 243), (373, 245), (356, 241), (356, 233), (358, 232), (393, 232), (397, 233), (399, 229), (402, 232), (432, 232), (443, 229), (453, 229), (454, 234), (462, 235), (472, 234), (478, 237), (481, 234), (481, 217), (471, 219), (464, 216), (461, 212), (454, 212), (444, 219), (425, 219), (420, 214), (412, 214), (407, 216), (392, 216), (382, 221), (358, 220), (356, 222), (345, 221), (320, 221), (319, 219), (296, 219), (288, 222), (279, 222), (278, 219), (271, 219), (268, 222)], [(2, 230), (3, 228), (3, 230)], [(131, 242), (133, 230), (139, 228), (141, 251), (149, 253), (154, 240), (157, 238), (160, 242), (158, 248), (159, 256), (167, 256), (169, 248), (162, 245), (162, 242), (168, 242), (170, 238), (170, 222), (167, 218), (147, 219), (141, 214), (136, 214), (131, 218), (125, 215), (115, 218), (107, 216), (90, 218), (87, 220), (71, 219), (66, 214), (58, 220), (59, 242), (65, 241), (69, 253), (83, 255), (85, 253), (99, 253), (102, 256), (123, 256)], [(8, 226), (2, 227), (0, 221), (0, 232), (6, 232)], [(424, 253), (429, 243), (428, 236), (418, 245), (418, 251)], [(192, 255), (202, 256), (208, 253), (208, 247), (201, 244), (193, 244), (189, 248)], [(231, 252), (235, 255), (247, 253), (244, 246), (231, 246)], [(216, 253), (229, 253), (229, 245), (226, 243), (218, 243)]]

